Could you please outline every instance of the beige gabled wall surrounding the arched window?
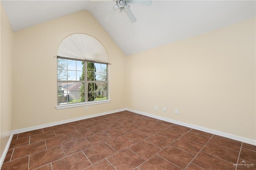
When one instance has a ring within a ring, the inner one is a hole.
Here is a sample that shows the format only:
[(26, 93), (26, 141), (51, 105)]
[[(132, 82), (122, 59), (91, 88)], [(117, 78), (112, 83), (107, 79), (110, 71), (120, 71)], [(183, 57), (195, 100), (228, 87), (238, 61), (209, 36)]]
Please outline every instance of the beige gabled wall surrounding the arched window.
[[(70, 34), (94, 36), (106, 48), (110, 63), (108, 104), (56, 110), (56, 56), (59, 43)], [(14, 32), (13, 129), (104, 113), (126, 107), (125, 56), (96, 19), (80, 11)]]

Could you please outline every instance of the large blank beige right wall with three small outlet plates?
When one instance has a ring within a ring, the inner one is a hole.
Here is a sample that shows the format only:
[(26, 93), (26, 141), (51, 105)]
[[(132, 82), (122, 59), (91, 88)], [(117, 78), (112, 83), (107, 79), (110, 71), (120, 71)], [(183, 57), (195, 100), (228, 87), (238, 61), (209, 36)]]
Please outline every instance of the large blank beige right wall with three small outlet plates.
[(255, 31), (253, 18), (128, 56), (127, 108), (255, 140)]

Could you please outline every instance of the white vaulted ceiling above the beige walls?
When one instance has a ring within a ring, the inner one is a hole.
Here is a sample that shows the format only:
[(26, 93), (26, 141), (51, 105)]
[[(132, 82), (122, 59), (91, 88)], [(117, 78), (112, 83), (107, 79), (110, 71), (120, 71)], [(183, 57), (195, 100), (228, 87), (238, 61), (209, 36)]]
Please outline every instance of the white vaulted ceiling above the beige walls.
[(131, 4), (137, 21), (125, 13), (104, 19), (115, 2), (68, 0), (2, 0), (13, 31), (80, 10), (88, 10), (125, 55), (176, 42), (256, 16), (256, 1), (153, 0), (151, 6)]

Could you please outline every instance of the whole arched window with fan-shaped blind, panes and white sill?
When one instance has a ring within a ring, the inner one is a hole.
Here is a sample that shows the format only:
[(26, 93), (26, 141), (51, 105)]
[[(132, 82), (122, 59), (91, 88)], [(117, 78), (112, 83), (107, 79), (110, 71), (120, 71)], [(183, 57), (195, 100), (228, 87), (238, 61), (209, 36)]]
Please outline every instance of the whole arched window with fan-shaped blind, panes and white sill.
[(56, 109), (110, 102), (108, 65), (108, 53), (96, 38), (72, 34), (62, 40), (57, 53)]

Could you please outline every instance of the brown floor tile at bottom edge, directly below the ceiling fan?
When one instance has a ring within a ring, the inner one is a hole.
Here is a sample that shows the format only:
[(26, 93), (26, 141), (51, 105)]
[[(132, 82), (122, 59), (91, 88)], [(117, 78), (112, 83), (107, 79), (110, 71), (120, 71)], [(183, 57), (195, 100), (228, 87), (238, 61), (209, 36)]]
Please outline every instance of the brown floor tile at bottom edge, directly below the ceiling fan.
[(113, 156), (110, 156), (107, 160), (117, 170), (133, 170), (145, 161), (129, 149), (122, 150)]

